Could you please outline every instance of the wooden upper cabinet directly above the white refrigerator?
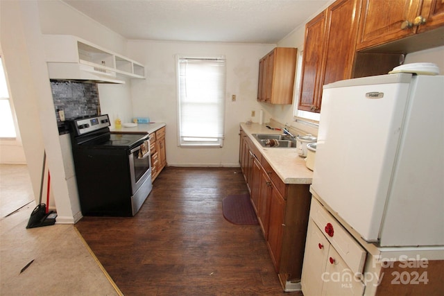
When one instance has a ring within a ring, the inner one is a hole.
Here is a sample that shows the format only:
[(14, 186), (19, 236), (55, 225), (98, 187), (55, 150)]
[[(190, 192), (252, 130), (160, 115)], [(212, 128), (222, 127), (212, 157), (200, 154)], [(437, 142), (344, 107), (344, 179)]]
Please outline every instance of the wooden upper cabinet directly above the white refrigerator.
[(442, 0), (364, 0), (357, 50), (386, 44), (444, 24)]

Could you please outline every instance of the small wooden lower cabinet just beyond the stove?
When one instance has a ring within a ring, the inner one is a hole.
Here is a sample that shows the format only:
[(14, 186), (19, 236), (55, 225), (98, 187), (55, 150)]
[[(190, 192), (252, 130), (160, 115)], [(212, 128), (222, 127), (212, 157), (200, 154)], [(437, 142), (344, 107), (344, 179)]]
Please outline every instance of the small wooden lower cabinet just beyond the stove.
[(162, 169), (167, 166), (165, 150), (165, 127), (150, 134), (151, 148), (151, 180), (154, 181)]

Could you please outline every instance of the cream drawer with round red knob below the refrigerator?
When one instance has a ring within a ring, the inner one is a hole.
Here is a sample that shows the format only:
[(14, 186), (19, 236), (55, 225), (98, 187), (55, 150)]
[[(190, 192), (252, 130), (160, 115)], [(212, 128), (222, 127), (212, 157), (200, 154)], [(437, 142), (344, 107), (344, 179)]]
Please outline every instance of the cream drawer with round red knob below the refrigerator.
[(310, 218), (318, 225), (352, 272), (362, 272), (366, 251), (316, 198), (311, 198)]

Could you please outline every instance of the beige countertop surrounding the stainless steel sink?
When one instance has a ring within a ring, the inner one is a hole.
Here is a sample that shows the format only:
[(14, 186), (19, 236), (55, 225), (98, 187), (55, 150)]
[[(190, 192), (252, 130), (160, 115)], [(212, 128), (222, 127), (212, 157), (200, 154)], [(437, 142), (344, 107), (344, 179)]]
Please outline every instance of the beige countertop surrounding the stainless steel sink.
[(285, 184), (311, 184), (313, 172), (305, 166), (305, 158), (298, 155), (296, 148), (265, 148), (251, 135), (282, 134), (282, 130), (270, 130), (259, 123), (241, 123), (241, 128)]

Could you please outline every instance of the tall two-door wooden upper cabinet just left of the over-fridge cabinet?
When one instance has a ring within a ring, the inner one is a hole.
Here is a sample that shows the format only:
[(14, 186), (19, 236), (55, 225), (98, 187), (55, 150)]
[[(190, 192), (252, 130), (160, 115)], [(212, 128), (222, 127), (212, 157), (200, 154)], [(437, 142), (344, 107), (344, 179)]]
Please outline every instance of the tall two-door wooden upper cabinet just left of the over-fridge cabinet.
[(299, 109), (321, 111), (323, 85), (352, 76), (360, 0), (339, 0), (305, 26)]

